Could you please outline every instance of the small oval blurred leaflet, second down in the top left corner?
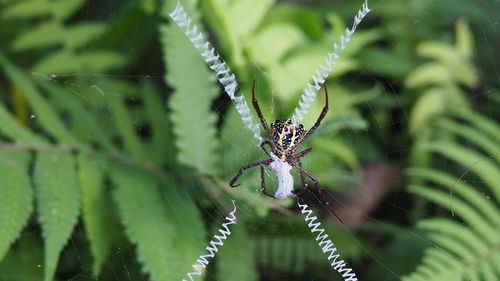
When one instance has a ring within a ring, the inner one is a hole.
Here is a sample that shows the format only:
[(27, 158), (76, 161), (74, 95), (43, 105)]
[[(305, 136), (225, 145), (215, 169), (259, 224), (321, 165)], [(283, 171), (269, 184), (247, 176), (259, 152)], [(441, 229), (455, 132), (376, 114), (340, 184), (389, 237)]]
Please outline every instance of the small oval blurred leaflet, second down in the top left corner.
[(63, 26), (59, 23), (40, 24), (32, 30), (21, 33), (14, 41), (13, 47), (17, 51), (51, 47), (62, 44), (63, 34)]

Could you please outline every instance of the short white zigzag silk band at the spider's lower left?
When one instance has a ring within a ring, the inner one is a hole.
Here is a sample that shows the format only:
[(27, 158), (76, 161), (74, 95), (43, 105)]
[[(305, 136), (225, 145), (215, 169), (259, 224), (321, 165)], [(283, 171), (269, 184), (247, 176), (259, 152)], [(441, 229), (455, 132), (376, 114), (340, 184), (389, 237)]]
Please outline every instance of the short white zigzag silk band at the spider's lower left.
[(220, 235), (214, 235), (208, 246), (205, 248), (208, 254), (200, 255), (200, 257), (196, 260), (196, 263), (193, 264), (194, 271), (187, 274), (189, 279), (182, 279), (182, 281), (194, 281), (194, 276), (201, 276), (205, 272), (210, 260), (212, 260), (219, 251), (219, 248), (224, 246), (224, 241), (231, 235), (229, 226), (231, 224), (236, 224), (236, 204), (234, 201), (233, 206), (233, 211), (226, 216), (224, 223), (218, 230)]

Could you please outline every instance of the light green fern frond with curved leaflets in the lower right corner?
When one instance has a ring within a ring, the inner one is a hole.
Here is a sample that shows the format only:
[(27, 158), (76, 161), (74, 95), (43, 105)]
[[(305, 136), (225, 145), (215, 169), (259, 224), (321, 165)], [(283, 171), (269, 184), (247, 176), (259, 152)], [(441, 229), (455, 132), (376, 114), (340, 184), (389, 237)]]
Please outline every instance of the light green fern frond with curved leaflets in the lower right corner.
[[(464, 223), (445, 218), (419, 222), (417, 226), (427, 232), (432, 247), (425, 252), (417, 269), (403, 280), (496, 280), (500, 277), (500, 210), (497, 204), (500, 201), (500, 164), (493, 160), (500, 145), (492, 141), (500, 126), (489, 120), (483, 122), (485, 118), (476, 113), (456, 114), (469, 123), (462, 125), (444, 119), (437, 124), (457, 136), (455, 141), (421, 142), (418, 149), (442, 156), (462, 166), (464, 172), (450, 175), (427, 168), (410, 169), (409, 174), (420, 183), (410, 185), (410, 191), (451, 210)], [(460, 140), (473, 144), (476, 149), (458, 144)], [(473, 176), (480, 179), (479, 186), (467, 182)], [(445, 190), (430, 186), (442, 186)], [(450, 196), (451, 192), (454, 196)], [(495, 196), (485, 195), (490, 192)]]

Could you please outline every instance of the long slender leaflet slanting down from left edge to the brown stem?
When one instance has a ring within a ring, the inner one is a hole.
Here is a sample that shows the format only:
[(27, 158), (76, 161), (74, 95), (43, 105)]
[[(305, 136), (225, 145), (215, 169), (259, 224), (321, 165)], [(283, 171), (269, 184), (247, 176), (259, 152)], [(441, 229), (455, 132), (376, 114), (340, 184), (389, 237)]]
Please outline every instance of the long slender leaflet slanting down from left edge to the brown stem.
[(36, 120), (50, 132), (56, 139), (66, 144), (78, 144), (74, 137), (69, 134), (64, 127), (62, 121), (58, 118), (57, 113), (52, 109), (51, 105), (38, 92), (35, 85), (25, 76), (25, 74), (16, 66), (11, 64), (0, 53), (0, 65), (3, 67), (5, 74), (16, 85), (26, 97), (26, 100), (35, 112)]

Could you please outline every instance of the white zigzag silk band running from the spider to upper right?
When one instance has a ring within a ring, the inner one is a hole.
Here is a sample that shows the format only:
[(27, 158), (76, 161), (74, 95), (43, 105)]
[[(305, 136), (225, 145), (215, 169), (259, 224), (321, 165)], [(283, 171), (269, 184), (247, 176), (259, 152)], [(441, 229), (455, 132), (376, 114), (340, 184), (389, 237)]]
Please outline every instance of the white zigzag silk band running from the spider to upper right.
[(299, 105), (295, 108), (294, 114), (292, 116), (293, 123), (299, 124), (304, 119), (304, 116), (307, 114), (309, 107), (311, 107), (311, 104), (316, 98), (318, 91), (321, 89), (321, 87), (325, 83), (326, 78), (332, 71), (332, 68), (335, 65), (335, 61), (338, 60), (338, 58), (340, 57), (340, 53), (345, 49), (347, 43), (349, 43), (349, 41), (351, 40), (351, 36), (356, 31), (356, 28), (369, 12), (370, 8), (368, 8), (368, 0), (365, 0), (363, 6), (358, 10), (358, 13), (354, 17), (352, 28), (346, 28), (344, 34), (340, 36), (340, 45), (338, 45), (337, 43), (333, 44), (333, 51), (328, 53), (328, 56), (325, 58), (326, 64), (319, 66), (319, 68), (316, 70), (316, 74), (312, 77), (313, 84), (308, 83), (306, 88), (302, 92)]

